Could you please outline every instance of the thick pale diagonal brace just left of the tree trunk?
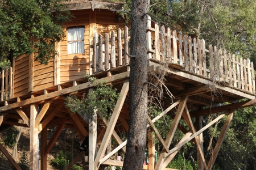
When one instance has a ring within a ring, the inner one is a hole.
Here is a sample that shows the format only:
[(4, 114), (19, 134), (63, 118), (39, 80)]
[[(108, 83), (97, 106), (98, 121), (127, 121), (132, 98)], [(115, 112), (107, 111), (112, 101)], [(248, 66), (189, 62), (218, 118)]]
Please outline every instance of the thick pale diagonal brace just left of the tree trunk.
[[(114, 75), (109, 76), (109, 78), (111, 78), (113, 76)], [(120, 92), (121, 97), (117, 101), (117, 104), (115, 104), (114, 111), (113, 111), (112, 116), (111, 116), (110, 121), (109, 121), (109, 126), (106, 129), (106, 133), (105, 133), (105, 135), (102, 139), (102, 145), (100, 146), (100, 149), (98, 150), (98, 155), (96, 156), (96, 159), (94, 160), (94, 168), (96, 170), (98, 169), (98, 166), (97, 166), (98, 162), (104, 156), (104, 152), (105, 152), (106, 147), (108, 146), (108, 143), (109, 143), (110, 134), (113, 133), (114, 126), (117, 123), (117, 119), (118, 119), (119, 113), (121, 112), (121, 109), (123, 107), (123, 103), (125, 102), (125, 98), (126, 98), (128, 90), (129, 90), (129, 79), (126, 79), (125, 83), (123, 83), (123, 87), (122, 87), (122, 90)]]

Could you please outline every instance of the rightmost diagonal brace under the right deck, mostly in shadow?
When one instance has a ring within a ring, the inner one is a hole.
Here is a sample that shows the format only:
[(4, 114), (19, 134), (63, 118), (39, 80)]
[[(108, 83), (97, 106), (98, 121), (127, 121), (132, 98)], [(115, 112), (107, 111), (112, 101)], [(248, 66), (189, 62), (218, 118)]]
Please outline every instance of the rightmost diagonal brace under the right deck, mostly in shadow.
[(215, 160), (217, 158), (218, 152), (220, 151), (222, 142), (224, 141), (224, 138), (225, 138), (225, 135), (226, 135), (226, 131), (228, 131), (230, 122), (232, 121), (233, 113), (234, 113), (234, 109), (230, 110), (229, 115), (226, 118), (226, 121), (225, 121), (224, 126), (223, 126), (223, 128), (221, 130), (221, 133), (220, 133), (220, 137), (218, 137), (218, 141), (216, 143), (216, 146), (214, 147), (212, 156), (210, 156), (210, 160), (208, 162), (207, 169), (212, 169), (213, 168), (213, 165), (214, 165)]

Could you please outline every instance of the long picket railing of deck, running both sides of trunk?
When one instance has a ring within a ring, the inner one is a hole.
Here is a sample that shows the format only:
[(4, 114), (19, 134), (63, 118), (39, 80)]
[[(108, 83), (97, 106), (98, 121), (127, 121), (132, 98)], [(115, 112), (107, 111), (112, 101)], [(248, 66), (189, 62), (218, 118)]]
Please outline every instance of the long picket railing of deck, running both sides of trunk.
[[(115, 37), (112, 31), (110, 39), (106, 33), (105, 41), (101, 35), (94, 35), (93, 73), (130, 63), (126, 54), (129, 53), (128, 28), (125, 27), (123, 32), (124, 36), (118, 28)], [(151, 24), (150, 16), (147, 22), (147, 58), (255, 94), (255, 76), (250, 59), (212, 45), (207, 49), (203, 39), (192, 39), (164, 25), (159, 29), (158, 24)]]

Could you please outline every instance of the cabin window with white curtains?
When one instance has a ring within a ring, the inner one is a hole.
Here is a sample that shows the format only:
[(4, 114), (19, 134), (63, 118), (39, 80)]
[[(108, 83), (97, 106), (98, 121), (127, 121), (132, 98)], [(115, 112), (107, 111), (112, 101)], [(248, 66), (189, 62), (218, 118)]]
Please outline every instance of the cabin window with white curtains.
[(84, 53), (84, 27), (68, 28), (68, 54)]

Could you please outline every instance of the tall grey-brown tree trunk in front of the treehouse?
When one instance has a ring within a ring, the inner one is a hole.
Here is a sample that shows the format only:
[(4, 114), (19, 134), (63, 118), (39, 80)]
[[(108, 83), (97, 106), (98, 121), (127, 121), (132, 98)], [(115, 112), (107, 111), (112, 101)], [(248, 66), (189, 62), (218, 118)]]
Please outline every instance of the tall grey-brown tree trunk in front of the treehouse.
[(131, 64), (129, 134), (123, 169), (141, 170), (147, 135), (147, 44), (148, 0), (133, 0), (131, 11)]

